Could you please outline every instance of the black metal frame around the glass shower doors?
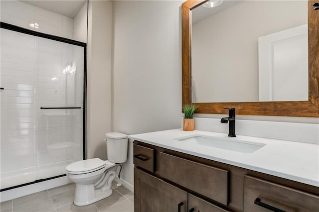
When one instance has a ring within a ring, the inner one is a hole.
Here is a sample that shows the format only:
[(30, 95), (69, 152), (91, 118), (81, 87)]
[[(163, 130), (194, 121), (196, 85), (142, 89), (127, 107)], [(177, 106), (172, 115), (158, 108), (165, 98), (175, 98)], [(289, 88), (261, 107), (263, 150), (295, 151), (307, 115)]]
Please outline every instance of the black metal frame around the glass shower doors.
[[(72, 45), (76, 45), (76, 46), (81, 46), (84, 47), (84, 76), (83, 76), (83, 85), (84, 85), (84, 90), (83, 90), (83, 160), (86, 159), (86, 64), (87, 64), (87, 44), (80, 42), (80, 41), (76, 41), (76, 40), (72, 40), (72, 39), (68, 39), (68, 38), (64, 38), (64, 37), (60, 37), (60, 36), (56, 36), (56, 35), (51, 35), (51, 34), (46, 34), (46, 33), (42, 33), (42, 32), (38, 32), (38, 31), (33, 31), (30, 29), (26, 29), (20, 26), (16, 26), (13, 24), (9, 24), (9, 23), (5, 23), (5, 22), (0, 22), (0, 28), (2, 29), (7, 29), (7, 30), (11, 30), (11, 31), (16, 31), (16, 32), (20, 32), (23, 34), (28, 34), (28, 35), (33, 35), (36, 37), (42, 37), (42, 38), (46, 38), (49, 40), (55, 40), (55, 41), (59, 41), (62, 43), (68, 43), (68, 44), (72, 44)], [(4, 88), (5, 89), (5, 88)], [(24, 183), (24, 184), (20, 184), (20, 185), (16, 185), (16, 186), (12, 186), (12, 187), (8, 187), (8, 188), (4, 188), (1, 189), (0, 192), (2, 191), (7, 191), (7, 190), (11, 190), (11, 189), (15, 189), (15, 188), (19, 188), (22, 186), (27, 186), (27, 185), (31, 185), (34, 183), (39, 183), (39, 182), (43, 182), (43, 181), (47, 181), (47, 180), (52, 180), (55, 178), (59, 178), (59, 177), (64, 177), (66, 176), (66, 174), (63, 175), (58, 175), (58, 176), (54, 176), (54, 177), (50, 177), (50, 178), (45, 178), (45, 179), (40, 179), (40, 180), (35, 180), (33, 182), (29, 182), (29, 183)]]

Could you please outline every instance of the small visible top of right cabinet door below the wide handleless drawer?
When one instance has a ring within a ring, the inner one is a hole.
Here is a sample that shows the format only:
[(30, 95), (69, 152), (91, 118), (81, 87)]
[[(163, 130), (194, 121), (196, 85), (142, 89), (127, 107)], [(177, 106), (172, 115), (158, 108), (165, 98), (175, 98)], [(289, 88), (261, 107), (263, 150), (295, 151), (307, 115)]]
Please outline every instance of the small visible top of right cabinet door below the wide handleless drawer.
[(188, 194), (188, 210), (189, 212), (230, 212), (191, 194)]

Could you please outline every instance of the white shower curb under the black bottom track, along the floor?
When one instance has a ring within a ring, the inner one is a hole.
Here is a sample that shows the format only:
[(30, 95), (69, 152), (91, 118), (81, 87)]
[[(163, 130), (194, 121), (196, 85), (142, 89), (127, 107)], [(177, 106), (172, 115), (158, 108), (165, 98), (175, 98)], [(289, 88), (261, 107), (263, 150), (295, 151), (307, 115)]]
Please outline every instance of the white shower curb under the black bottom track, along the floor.
[(25, 195), (34, 194), (47, 189), (52, 189), (58, 186), (63, 186), (72, 183), (67, 176), (55, 178), (52, 180), (46, 180), (43, 182), (38, 182), (30, 184), (27, 186), (22, 186), (15, 189), (10, 189), (0, 193), (0, 202), (5, 202), (8, 200), (16, 199)]

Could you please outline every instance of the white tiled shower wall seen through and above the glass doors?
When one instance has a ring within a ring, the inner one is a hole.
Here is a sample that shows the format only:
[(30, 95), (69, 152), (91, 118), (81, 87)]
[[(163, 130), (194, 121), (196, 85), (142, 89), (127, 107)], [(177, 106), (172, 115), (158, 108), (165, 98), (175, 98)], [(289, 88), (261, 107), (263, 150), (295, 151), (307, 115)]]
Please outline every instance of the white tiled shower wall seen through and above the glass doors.
[[(73, 38), (73, 19), (21, 1), (1, 0), (1, 21)], [(83, 47), (1, 29), (1, 188), (65, 173), (83, 158)], [(75, 75), (64, 75), (72, 63)], [(21, 173), (23, 179), (21, 179)], [(8, 178), (8, 181), (3, 179)], [(13, 183), (13, 184), (11, 184)]]

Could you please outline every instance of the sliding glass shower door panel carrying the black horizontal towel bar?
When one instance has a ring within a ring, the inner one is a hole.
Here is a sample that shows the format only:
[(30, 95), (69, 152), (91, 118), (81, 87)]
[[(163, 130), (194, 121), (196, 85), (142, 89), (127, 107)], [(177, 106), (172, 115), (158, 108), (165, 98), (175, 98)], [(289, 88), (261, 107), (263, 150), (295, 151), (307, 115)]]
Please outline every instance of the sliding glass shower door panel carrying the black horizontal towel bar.
[(36, 162), (44, 179), (83, 159), (84, 48), (38, 38), (36, 52)]

